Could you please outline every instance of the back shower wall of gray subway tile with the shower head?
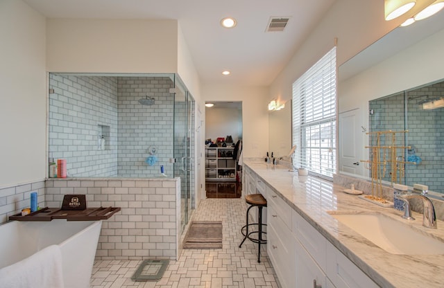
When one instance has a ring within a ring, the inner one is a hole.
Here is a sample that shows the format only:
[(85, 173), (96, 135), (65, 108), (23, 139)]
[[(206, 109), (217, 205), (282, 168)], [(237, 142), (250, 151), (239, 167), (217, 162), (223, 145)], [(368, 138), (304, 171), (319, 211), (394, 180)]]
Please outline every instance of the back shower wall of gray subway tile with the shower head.
[[(174, 88), (168, 77), (118, 78), (118, 159), (119, 177), (159, 177), (160, 165), (165, 174), (172, 175)], [(138, 102), (141, 98), (154, 98), (151, 106)], [(176, 145), (179, 143), (176, 143)], [(145, 160), (155, 148), (157, 162), (151, 166)], [(182, 148), (183, 149), (183, 148)]]

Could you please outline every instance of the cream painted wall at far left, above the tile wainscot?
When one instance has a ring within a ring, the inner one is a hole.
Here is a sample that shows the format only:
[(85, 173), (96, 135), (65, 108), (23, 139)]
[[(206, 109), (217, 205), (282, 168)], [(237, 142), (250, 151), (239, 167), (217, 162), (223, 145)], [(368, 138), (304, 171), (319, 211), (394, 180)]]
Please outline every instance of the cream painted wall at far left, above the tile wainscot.
[(45, 18), (22, 1), (1, 0), (0, 51), (0, 187), (6, 187), (45, 177)]

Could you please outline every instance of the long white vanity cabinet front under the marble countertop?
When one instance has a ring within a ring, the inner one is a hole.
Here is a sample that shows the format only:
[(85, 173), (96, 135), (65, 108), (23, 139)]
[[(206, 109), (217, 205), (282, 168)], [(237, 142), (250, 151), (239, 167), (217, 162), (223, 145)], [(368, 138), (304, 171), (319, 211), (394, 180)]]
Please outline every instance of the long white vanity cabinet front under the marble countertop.
[(250, 168), (244, 183), (267, 200), (266, 249), (282, 288), (379, 287)]

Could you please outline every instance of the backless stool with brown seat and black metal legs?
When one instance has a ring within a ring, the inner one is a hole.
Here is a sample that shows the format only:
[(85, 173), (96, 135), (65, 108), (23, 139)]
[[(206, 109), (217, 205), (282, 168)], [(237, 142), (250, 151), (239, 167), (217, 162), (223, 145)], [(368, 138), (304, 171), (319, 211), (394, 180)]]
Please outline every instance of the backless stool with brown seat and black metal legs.
[[(257, 243), (257, 262), (261, 262), (261, 244), (266, 244), (266, 237), (264, 239), (263, 236), (266, 236), (266, 232), (262, 231), (262, 227), (266, 226), (266, 224), (262, 223), (262, 208), (266, 207), (266, 199), (262, 194), (250, 194), (246, 195), (245, 201), (247, 204), (250, 204), (250, 207), (247, 209), (247, 221), (246, 225), (241, 228), (241, 233), (244, 235), (244, 240), (242, 240), (239, 248), (241, 248), (242, 244), (244, 244), (246, 239), (249, 239), (251, 242)], [(248, 223), (248, 212), (251, 208), (257, 207), (257, 223)], [(250, 226), (257, 225), (257, 230), (249, 231)], [(256, 237), (253, 237), (256, 235)]]

